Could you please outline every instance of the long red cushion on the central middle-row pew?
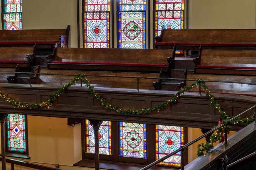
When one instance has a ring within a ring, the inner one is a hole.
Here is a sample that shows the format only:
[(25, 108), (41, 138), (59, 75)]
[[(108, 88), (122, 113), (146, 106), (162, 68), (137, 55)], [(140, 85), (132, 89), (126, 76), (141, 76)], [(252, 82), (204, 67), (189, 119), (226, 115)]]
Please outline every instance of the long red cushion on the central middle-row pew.
[(56, 64), (97, 64), (97, 65), (116, 65), (116, 66), (167, 66), (167, 64), (147, 64), (147, 63), (112, 63), (112, 62), (70, 62), (52, 61)]

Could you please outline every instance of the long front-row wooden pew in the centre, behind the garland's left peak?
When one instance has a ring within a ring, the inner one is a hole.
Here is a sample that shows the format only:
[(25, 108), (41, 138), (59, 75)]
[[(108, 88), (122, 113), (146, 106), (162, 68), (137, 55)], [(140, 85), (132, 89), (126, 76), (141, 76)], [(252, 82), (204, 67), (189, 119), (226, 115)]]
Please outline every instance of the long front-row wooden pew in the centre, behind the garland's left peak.
[[(100, 72), (100, 71), (81, 71), (81, 70), (40, 70), (40, 73), (36, 77), (32, 78), (32, 84), (52, 84), (52, 85), (64, 85), (68, 81), (73, 80), (74, 74), (86, 74), (86, 75), (114, 75), (114, 76), (132, 76), (132, 77), (153, 77), (158, 78), (159, 73), (131, 73), (131, 72)], [(72, 75), (46, 75), (46, 74), (72, 74)], [(98, 77), (98, 76), (86, 76), (89, 79), (90, 84), (95, 87), (111, 87), (111, 88), (129, 88), (137, 89), (136, 78), (120, 78), (120, 77)], [(153, 82), (156, 79), (139, 79), (139, 89), (151, 89), (153, 90)], [(80, 86), (80, 81), (75, 86)], [(83, 87), (85, 85), (83, 84)]]

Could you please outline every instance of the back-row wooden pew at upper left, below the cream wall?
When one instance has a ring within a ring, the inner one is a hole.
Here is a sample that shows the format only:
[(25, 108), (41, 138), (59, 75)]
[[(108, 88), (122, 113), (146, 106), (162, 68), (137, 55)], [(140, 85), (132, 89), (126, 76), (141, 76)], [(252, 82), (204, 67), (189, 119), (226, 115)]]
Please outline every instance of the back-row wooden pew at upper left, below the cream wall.
[[(53, 48), (55, 44), (67, 47), (70, 26), (66, 29), (36, 30), (0, 30), (1, 47), (30, 47), (38, 44), (39, 48)], [(62, 40), (62, 43), (61, 43)]]

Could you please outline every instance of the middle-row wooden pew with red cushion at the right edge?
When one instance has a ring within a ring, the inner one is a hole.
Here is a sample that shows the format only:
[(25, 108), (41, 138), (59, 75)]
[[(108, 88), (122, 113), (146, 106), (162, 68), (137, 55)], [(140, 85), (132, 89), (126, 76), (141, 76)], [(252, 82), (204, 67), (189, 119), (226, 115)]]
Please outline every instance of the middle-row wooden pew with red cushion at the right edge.
[(256, 75), (256, 51), (201, 49), (195, 59), (195, 73)]

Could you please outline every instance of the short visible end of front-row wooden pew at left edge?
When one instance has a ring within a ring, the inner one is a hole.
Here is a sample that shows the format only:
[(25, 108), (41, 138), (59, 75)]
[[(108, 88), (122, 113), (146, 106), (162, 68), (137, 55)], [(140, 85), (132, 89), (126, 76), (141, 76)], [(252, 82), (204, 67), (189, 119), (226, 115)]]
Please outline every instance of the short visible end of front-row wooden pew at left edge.
[(7, 72), (19, 72), (19, 65), (17, 65), (15, 68), (0, 68), (0, 83), (17, 83), (18, 74), (12, 74)]

